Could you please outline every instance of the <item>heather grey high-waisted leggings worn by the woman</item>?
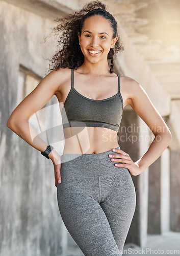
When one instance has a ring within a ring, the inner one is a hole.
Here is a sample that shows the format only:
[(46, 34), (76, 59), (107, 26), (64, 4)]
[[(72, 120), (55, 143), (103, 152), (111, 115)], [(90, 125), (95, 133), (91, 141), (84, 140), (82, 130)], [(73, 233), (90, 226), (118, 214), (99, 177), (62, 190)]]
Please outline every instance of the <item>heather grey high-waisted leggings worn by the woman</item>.
[[(117, 147), (120, 149), (120, 147)], [(109, 154), (64, 154), (57, 185), (62, 220), (85, 256), (122, 255), (135, 207), (130, 171)]]

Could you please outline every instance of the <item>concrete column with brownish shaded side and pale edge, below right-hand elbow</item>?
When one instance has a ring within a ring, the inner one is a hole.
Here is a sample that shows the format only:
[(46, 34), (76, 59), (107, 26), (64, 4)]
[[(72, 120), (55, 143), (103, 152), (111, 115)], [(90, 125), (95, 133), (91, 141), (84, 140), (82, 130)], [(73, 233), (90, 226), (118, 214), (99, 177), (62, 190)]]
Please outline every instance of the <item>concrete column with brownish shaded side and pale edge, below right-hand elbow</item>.
[(169, 231), (170, 172), (169, 148), (149, 166), (148, 233)]

